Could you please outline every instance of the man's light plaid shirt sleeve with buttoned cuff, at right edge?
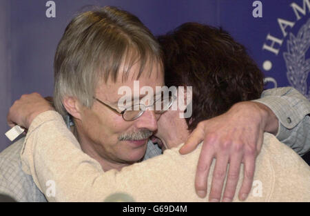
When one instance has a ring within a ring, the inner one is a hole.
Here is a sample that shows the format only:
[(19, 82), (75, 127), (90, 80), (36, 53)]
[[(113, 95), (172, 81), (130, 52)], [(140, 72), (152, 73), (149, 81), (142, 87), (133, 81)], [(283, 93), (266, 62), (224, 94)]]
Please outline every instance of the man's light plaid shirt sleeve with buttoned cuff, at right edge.
[(279, 119), (276, 137), (304, 155), (310, 150), (310, 102), (298, 90), (272, 88), (262, 92), (260, 99), (254, 100), (268, 106)]

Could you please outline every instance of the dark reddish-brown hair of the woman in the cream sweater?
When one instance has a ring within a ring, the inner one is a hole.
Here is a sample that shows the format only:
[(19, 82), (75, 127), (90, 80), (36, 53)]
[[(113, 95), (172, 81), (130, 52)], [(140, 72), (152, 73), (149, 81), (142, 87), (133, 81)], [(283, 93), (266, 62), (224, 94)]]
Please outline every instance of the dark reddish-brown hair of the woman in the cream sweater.
[(260, 97), (262, 72), (245, 47), (223, 29), (184, 23), (158, 41), (166, 86), (192, 86), (192, 117), (186, 119), (189, 130), (237, 102)]

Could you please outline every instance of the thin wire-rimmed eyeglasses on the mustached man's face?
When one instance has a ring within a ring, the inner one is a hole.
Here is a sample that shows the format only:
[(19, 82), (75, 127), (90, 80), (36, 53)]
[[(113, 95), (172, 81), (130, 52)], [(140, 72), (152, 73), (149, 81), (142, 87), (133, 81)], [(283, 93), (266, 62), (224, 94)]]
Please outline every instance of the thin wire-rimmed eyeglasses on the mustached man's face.
[(97, 99), (96, 97), (94, 97), (94, 99), (96, 99), (96, 101), (98, 101), (100, 104), (107, 106), (107, 108), (110, 108), (110, 110), (112, 110), (113, 112), (121, 114), (125, 121), (134, 121), (135, 119), (138, 119), (138, 117), (141, 117), (146, 108), (150, 106), (155, 107), (154, 113), (157, 115), (169, 110), (169, 108), (172, 106), (172, 102), (174, 101), (174, 99), (176, 99), (176, 97), (161, 97), (161, 99), (157, 99), (156, 101), (154, 101), (153, 104), (150, 104), (149, 106), (145, 106), (145, 104), (133, 104), (132, 106), (128, 106), (127, 108), (125, 108), (125, 110), (121, 112), (119, 112), (115, 108), (112, 108), (112, 106), (105, 104), (103, 101)]

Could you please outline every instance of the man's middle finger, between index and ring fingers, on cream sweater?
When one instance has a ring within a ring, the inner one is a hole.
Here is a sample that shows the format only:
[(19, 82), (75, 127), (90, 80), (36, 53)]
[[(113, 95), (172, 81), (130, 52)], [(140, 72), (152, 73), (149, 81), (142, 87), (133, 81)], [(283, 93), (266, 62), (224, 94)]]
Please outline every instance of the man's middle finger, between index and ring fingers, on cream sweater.
[(216, 158), (216, 166), (213, 171), (209, 202), (220, 202), (220, 197), (222, 196), (223, 184), (226, 177), (227, 164), (228, 164), (228, 155)]

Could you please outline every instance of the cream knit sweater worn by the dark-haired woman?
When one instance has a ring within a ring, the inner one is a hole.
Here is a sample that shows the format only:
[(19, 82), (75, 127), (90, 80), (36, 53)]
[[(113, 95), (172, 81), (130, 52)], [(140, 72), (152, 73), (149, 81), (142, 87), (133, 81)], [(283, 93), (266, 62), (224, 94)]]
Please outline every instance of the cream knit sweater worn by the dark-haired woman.
[[(136, 202), (207, 202), (208, 196), (200, 199), (194, 190), (200, 148), (188, 155), (173, 148), (120, 172), (104, 172), (99, 162), (82, 152), (62, 117), (48, 111), (32, 122), (21, 159), (23, 170), (32, 175), (43, 193), (55, 182), (55, 196), (47, 197), (52, 202), (103, 202), (113, 193), (126, 193)], [(238, 202), (237, 196), (234, 201)], [(268, 133), (256, 160), (254, 186), (247, 202), (310, 202), (309, 166)]]

